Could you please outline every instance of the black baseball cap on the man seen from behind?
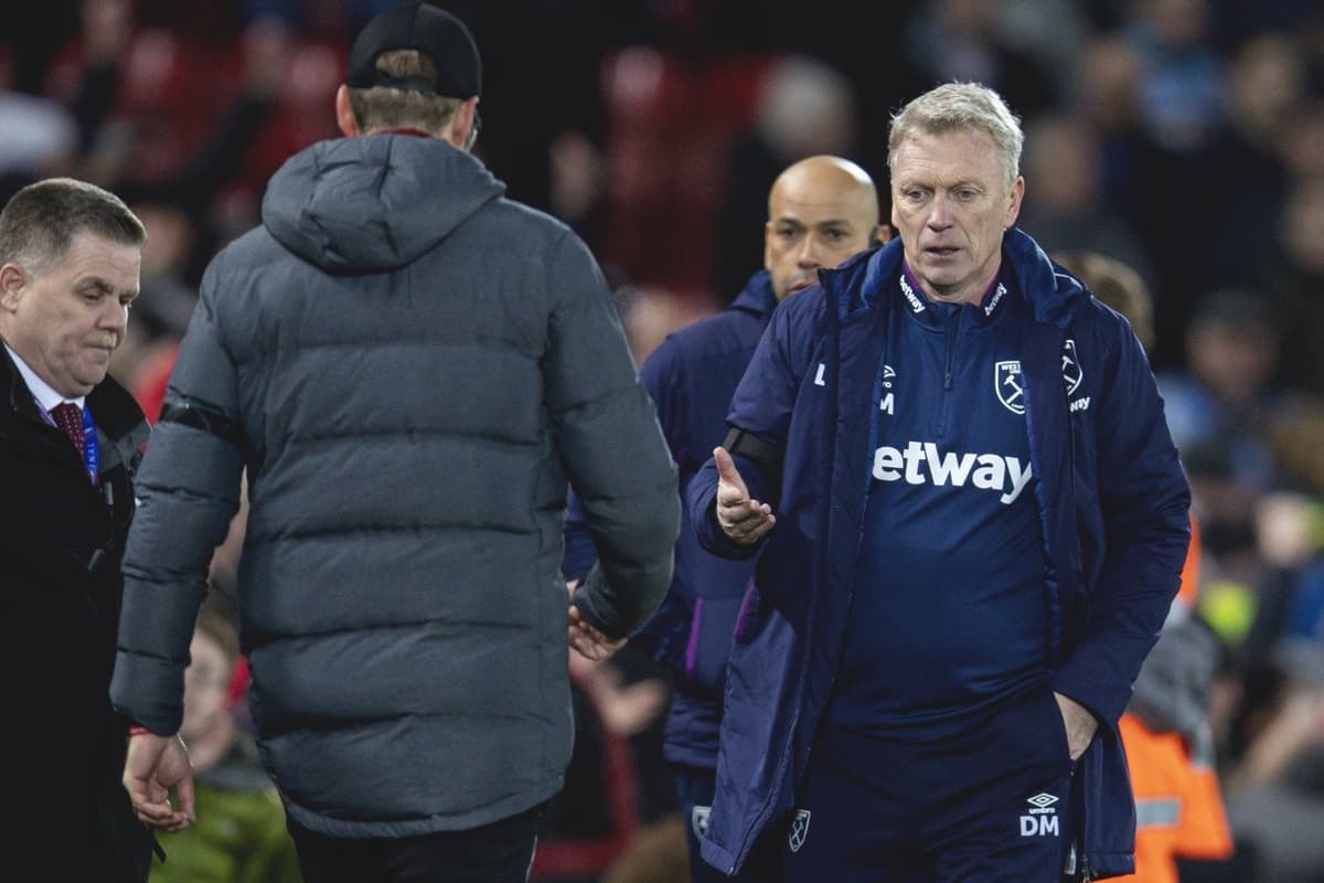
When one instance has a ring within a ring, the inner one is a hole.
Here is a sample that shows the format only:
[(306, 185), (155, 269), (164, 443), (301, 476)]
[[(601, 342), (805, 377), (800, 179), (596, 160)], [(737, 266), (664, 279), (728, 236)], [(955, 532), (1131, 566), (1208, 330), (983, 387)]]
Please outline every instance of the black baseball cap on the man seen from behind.
[[(401, 79), (377, 70), (377, 56), (392, 49), (416, 49), (432, 58), (437, 66), (436, 79)], [(344, 74), (344, 83), (351, 89), (385, 86), (446, 98), (473, 98), (482, 91), (482, 79), (483, 64), (469, 28), (422, 0), (402, 3), (369, 21), (355, 37)]]

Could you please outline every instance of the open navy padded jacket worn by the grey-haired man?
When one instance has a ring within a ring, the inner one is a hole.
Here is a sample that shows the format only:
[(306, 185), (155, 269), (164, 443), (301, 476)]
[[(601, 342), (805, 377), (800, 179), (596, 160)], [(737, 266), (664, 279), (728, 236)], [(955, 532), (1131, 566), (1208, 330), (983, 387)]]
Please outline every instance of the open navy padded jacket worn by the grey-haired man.
[[(834, 687), (878, 446), (887, 323), (906, 308), (883, 297), (900, 262), (894, 240), (821, 271), (818, 287), (773, 314), (736, 389), (728, 422), (780, 451), (759, 458), (767, 471), (736, 458), (751, 494), (775, 507), (776, 528), (755, 547), (736, 545), (716, 526), (711, 461), (688, 486), (706, 548), (759, 555), (756, 604), (732, 649), (703, 845), (704, 859), (728, 872), (794, 806)], [(1135, 804), (1116, 724), (1177, 592), (1190, 494), (1125, 319), (1018, 229), (1004, 236), (1002, 267), (1029, 307), (1016, 357), (1038, 477), (1049, 676), (1100, 720), (1078, 765), (1074, 818), (1086, 871), (1115, 876), (1135, 867)], [(992, 393), (994, 365), (985, 371)]]

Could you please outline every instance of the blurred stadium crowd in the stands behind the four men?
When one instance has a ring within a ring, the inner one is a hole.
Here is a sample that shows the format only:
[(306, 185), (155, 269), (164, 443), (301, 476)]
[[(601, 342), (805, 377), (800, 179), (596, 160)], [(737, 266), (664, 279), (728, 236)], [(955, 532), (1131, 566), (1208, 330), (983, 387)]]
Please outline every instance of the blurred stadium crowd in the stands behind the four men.
[[(113, 372), (148, 417), (203, 267), (258, 221), (286, 158), (336, 135), (348, 42), (387, 5), (5, 4), (0, 201), (73, 175), (143, 218), (143, 294)], [(761, 266), (781, 168), (838, 154), (886, 191), (891, 113), (943, 81), (1001, 91), (1026, 131), (1019, 225), (1050, 252), (1128, 263), (1153, 295), (1151, 355), (1204, 537), (1197, 610), (1222, 645), (1218, 772), (1255, 857), (1218, 879), (1324, 880), (1319, 0), (438, 5), (482, 49), (475, 152), (594, 249), (641, 361)], [(222, 600), (232, 572), (218, 556)], [(626, 653), (576, 682), (580, 748), (536, 878), (683, 879), (657, 748), (665, 675)], [(241, 688), (232, 700), (242, 735)]]

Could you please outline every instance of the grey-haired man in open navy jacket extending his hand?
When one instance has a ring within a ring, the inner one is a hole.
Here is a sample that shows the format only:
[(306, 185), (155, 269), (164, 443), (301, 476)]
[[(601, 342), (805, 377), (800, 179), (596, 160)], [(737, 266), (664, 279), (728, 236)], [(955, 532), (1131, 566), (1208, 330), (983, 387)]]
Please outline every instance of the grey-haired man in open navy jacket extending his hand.
[(761, 552), (703, 846), (724, 871), (1132, 870), (1116, 724), (1189, 491), (1125, 320), (1010, 229), (1019, 152), (990, 90), (911, 102), (902, 241), (775, 314), (690, 482), (706, 548)]

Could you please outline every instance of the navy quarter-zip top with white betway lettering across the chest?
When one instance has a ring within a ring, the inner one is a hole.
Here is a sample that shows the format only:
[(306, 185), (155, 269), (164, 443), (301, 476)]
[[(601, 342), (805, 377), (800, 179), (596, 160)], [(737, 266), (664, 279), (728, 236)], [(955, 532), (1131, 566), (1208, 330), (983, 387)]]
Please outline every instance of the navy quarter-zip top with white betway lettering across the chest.
[(887, 324), (826, 725), (927, 741), (981, 729), (1047, 684), (1043, 539), (1016, 357), (1029, 304), (1009, 294), (1014, 282), (994, 281), (978, 304), (929, 301), (908, 273), (883, 294), (903, 308)]

